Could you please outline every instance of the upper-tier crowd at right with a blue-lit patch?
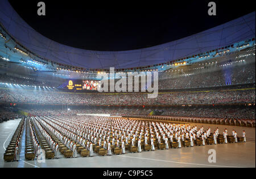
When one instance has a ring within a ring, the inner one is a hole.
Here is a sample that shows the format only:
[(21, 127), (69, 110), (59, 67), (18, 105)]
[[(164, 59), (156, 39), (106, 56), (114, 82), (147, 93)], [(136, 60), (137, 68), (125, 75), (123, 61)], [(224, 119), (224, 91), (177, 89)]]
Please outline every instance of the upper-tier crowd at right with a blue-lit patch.
[(210, 72), (204, 68), (180, 73), (176, 78), (159, 80), (159, 89), (205, 88), (249, 83), (255, 83), (255, 63), (239, 67), (224, 66)]

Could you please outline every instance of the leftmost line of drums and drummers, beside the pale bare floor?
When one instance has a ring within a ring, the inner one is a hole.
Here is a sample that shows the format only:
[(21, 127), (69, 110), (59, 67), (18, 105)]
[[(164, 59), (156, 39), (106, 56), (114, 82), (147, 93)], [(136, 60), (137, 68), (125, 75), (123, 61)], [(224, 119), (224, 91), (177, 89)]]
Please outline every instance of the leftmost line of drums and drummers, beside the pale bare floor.
[(24, 121), (25, 118), (20, 120), (18, 127), (15, 130), (13, 137), (9, 145), (6, 148), (5, 154), (3, 155), (3, 159), (5, 161), (18, 161), (19, 160), (19, 151), (21, 148), (21, 139), (24, 129)]

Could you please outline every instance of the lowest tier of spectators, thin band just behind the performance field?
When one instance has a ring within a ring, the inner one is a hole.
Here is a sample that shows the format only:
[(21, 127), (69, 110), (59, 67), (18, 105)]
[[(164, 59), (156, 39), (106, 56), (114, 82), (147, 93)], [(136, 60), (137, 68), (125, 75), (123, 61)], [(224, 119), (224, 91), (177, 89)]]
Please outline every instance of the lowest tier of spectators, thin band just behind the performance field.
[(129, 115), (150, 115), (152, 111), (161, 111), (162, 116), (177, 116), (177, 117), (214, 117), (214, 118), (241, 118), (255, 120), (255, 107), (170, 107), (160, 109), (145, 109), (145, 108), (93, 108), (86, 109), (23, 109), (25, 112), (35, 116), (72, 116), (76, 114), (112, 114), (114, 116), (129, 116)]

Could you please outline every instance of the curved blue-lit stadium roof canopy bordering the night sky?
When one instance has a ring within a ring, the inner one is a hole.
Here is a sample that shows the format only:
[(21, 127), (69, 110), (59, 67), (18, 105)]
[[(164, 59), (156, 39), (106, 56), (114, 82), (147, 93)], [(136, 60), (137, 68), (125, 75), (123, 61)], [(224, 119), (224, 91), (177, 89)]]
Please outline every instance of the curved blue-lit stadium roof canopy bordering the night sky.
[(52, 41), (24, 22), (7, 0), (0, 1), (0, 23), (19, 44), (38, 56), (87, 69), (127, 69), (155, 65), (255, 37), (255, 11), (180, 40), (150, 48), (118, 52), (84, 50)]

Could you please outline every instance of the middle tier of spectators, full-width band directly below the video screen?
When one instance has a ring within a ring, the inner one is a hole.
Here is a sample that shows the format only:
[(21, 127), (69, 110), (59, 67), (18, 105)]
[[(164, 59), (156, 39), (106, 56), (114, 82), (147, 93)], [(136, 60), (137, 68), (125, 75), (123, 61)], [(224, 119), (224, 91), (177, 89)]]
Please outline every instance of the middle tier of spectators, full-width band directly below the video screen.
[(159, 93), (61, 93), (0, 89), (0, 103), (79, 105), (184, 105), (255, 103), (255, 90)]

